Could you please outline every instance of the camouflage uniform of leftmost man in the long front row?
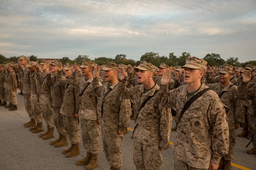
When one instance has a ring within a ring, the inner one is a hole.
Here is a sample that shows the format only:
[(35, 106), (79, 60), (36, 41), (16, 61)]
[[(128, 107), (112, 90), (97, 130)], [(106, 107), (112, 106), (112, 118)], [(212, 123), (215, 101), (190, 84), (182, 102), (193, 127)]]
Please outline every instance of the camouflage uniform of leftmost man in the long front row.
[[(20, 60), (28, 60), (29, 61), (29, 57), (26, 56), (22, 56), (20, 58)], [(24, 103), (25, 103), (25, 108), (26, 111), (28, 113), (28, 116), (30, 119), (34, 119), (34, 115), (32, 113), (32, 109), (31, 109), (31, 97), (30, 97), (30, 91), (31, 91), (31, 82), (30, 82), (30, 78), (31, 78), (31, 72), (29, 71), (29, 69), (24, 66), (19, 65), (19, 69), (21, 71), (23, 71), (23, 97), (24, 97)]]

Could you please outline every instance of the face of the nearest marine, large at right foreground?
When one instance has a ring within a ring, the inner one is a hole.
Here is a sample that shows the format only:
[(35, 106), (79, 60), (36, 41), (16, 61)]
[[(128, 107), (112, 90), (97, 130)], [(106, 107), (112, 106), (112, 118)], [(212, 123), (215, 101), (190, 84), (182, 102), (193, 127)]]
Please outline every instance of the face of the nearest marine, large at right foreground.
[[(197, 81), (201, 80), (201, 73), (204, 75), (203, 72), (200, 72), (201, 69), (191, 69), (188, 67), (184, 68), (184, 82), (189, 83), (195, 83)], [(182, 71), (181, 71), (182, 72)]]

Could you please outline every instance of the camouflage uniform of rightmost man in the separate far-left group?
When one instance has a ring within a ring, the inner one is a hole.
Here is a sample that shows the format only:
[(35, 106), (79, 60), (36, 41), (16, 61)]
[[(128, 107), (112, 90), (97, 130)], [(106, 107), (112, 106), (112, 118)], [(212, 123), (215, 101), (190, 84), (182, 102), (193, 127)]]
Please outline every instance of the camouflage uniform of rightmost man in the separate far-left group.
[(7, 84), (8, 84), (10, 103), (12, 103), (14, 106), (17, 106), (16, 90), (17, 90), (18, 83), (16, 79), (16, 73), (14, 71), (9, 73)]

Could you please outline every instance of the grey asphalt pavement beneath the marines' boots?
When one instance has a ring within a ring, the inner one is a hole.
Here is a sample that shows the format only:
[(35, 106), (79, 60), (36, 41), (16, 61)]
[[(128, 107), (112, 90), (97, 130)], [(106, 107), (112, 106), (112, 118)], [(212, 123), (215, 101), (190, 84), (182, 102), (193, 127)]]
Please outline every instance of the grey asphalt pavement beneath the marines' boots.
[[(18, 93), (18, 91), (17, 91)], [(3, 106), (0, 107), (0, 169), (3, 170), (34, 170), (34, 169), (85, 169), (84, 166), (77, 166), (76, 161), (81, 160), (86, 156), (86, 151), (83, 148), (82, 141), (79, 144), (80, 155), (72, 158), (66, 158), (62, 154), (63, 149), (68, 146), (55, 148), (49, 145), (49, 142), (58, 138), (58, 133), (55, 129), (54, 139), (43, 140), (39, 138), (39, 134), (33, 134), (23, 126), (29, 121), (28, 114), (25, 110), (23, 96), (17, 94), (18, 110), (9, 111)], [(7, 103), (8, 104), (8, 103)], [(173, 127), (175, 122), (173, 121)], [(130, 120), (129, 129), (134, 128), (134, 121)], [(44, 123), (44, 129), (46, 125)], [(124, 135), (122, 141), (123, 152), (123, 170), (136, 169), (133, 164), (133, 139), (131, 139), (132, 131)], [(242, 132), (242, 128), (237, 130), (237, 134)], [(81, 132), (80, 132), (81, 134)], [(172, 132), (170, 142), (174, 141), (175, 132)], [(98, 154), (98, 166), (95, 170), (110, 169), (110, 165), (106, 161), (103, 153), (101, 135), (99, 137), (100, 153)], [(232, 169), (256, 170), (255, 155), (247, 154), (246, 151), (251, 149), (252, 143), (248, 148), (245, 146), (249, 142), (246, 138), (237, 137), (235, 145), (235, 158), (232, 160)], [(164, 162), (160, 169), (172, 170), (174, 169), (174, 152), (172, 145), (167, 150), (162, 151)]]

